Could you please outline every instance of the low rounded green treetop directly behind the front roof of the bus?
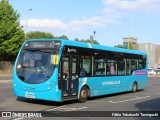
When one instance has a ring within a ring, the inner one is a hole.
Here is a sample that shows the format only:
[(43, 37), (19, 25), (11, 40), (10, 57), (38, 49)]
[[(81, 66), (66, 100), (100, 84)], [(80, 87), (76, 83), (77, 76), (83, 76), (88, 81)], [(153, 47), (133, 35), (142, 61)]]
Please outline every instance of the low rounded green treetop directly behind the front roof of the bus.
[(26, 39), (37, 39), (37, 38), (54, 38), (54, 35), (47, 32), (32, 31), (26, 34)]

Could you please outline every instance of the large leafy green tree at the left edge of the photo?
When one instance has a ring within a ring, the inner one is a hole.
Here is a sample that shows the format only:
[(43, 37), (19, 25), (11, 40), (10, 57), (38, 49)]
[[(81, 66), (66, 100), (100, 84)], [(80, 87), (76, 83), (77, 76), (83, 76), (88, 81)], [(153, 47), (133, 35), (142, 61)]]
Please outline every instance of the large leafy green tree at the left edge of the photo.
[(0, 1), (0, 60), (14, 60), (24, 41), (19, 17), (9, 0)]

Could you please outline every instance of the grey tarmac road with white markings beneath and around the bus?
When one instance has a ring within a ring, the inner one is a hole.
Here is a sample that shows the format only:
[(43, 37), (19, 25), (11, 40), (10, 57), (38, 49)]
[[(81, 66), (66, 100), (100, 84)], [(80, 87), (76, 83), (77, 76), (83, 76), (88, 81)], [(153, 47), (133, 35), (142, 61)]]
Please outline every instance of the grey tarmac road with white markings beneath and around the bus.
[[(7, 81), (7, 80), (3, 80)], [(11, 80), (10, 80), (11, 81)], [(0, 111), (40, 111), (40, 112), (55, 112), (57, 115), (63, 115), (66, 111), (80, 111), (83, 114), (85, 111), (89, 115), (92, 111), (96, 115), (98, 112), (107, 114), (110, 111), (159, 111), (160, 112), (160, 76), (149, 77), (149, 85), (142, 91), (136, 93), (120, 93), (95, 97), (88, 100), (86, 103), (78, 103), (77, 101), (67, 101), (57, 103), (45, 100), (34, 100), (17, 98), (13, 95), (11, 82), (0, 83)], [(84, 111), (84, 112), (83, 112)], [(85, 113), (86, 113), (85, 112)], [(65, 114), (66, 115), (66, 114)], [(98, 115), (98, 114), (97, 114)], [(160, 116), (160, 115), (159, 115)], [(1, 119), (1, 118), (0, 118)], [(19, 118), (16, 118), (18, 120)], [(36, 119), (36, 118), (35, 118)], [(40, 119), (40, 118), (38, 118)], [(51, 117), (46, 118), (53, 119)], [(59, 120), (59, 118), (55, 118)], [(64, 119), (64, 118), (62, 118)], [(61, 120), (62, 120), (61, 119)], [(75, 117), (67, 117), (65, 120), (78, 119)], [(117, 120), (117, 117), (85, 117), (80, 120)], [(118, 117), (118, 120), (159, 120), (160, 118), (146, 117)], [(78, 119), (79, 120), (79, 119)]]

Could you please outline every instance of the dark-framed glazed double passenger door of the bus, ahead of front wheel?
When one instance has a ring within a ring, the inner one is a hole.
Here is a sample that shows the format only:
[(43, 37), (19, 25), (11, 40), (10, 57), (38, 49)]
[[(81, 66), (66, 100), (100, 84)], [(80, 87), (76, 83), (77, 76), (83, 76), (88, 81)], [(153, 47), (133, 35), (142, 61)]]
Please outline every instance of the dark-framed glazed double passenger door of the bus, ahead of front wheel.
[(62, 99), (78, 97), (78, 56), (62, 57)]

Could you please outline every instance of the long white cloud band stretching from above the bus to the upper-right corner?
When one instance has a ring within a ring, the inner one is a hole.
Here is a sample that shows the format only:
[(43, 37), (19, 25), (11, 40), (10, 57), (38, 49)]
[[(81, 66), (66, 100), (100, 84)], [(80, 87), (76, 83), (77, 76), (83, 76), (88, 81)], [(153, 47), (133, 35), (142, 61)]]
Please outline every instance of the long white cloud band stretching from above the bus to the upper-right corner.
[[(49, 30), (52, 32), (68, 31), (81, 32), (87, 28), (104, 28), (110, 23), (117, 23), (124, 16), (124, 13), (143, 12), (155, 13), (160, 12), (160, 0), (102, 0), (103, 8), (100, 15), (91, 17), (79, 17), (66, 22), (64, 19), (28, 19), (28, 29)], [(21, 25), (26, 29), (26, 20), (21, 20)]]

